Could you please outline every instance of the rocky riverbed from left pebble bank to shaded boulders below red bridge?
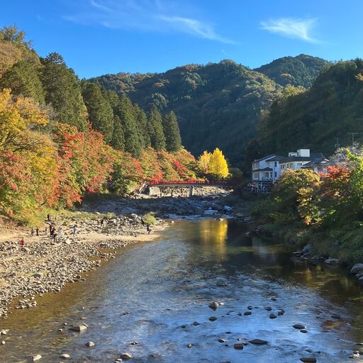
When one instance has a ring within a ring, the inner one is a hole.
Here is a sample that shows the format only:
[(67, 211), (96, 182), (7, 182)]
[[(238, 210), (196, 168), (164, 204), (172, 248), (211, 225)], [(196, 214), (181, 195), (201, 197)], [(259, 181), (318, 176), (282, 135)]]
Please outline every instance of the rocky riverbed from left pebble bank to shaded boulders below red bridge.
[[(147, 235), (142, 218), (145, 213), (152, 212), (162, 218), (220, 218), (235, 213), (233, 207), (225, 204), (229, 192), (224, 189), (206, 189), (199, 194), (192, 198), (101, 198), (84, 203), (78, 211), (57, 216), (57, 220), (53, 216), (54, 220), (45, 222), (38, 237), (31, 237), (29, 233), (24, 235), (23, 231), (10, 235), (8, 240), (4, 240), (3, 235), (0, 242), (0, 317), (6, 318), (9, 308), (37, 306), (37, 295), (58, 292), (65, 284), (84, 279), (82, 272), (96, 269), (101, 261), (114, 258), (120, 248), (155, 238), (155, 233), (167, 223), (156, 218), (157, 225), (152, 226), (151, 235)], [(245, 214), (238, 213), (239, 216)], [(57, 233), (61, 227), (62, 237), (50, 238), (49, 225), (55, 225)], [(77, 225), (76, 236), (72, 234), (74, 225)], [(21, 246), (19, 239), (23, 237), (26, 242)]]

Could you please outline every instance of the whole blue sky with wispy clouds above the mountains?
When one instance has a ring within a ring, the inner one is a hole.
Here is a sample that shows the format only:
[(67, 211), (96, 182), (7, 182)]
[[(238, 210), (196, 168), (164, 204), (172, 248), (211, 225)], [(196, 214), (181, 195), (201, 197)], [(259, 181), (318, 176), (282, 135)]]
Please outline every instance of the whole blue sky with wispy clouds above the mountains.
[(0, 25), (17, 23), (42, 56), (59, 52), (79, 77), (163, 72), (225, 58), (258, 67), (306, 53), (363, 57), (363, 1), (2, 1)]

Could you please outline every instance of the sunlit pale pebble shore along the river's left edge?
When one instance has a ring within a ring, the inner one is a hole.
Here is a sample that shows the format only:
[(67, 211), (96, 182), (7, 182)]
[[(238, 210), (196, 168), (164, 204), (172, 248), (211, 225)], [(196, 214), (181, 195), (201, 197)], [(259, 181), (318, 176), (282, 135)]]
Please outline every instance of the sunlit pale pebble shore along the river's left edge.
[(37, 306), (37, 296), (84, 281), (85, 272), (96, 270), (129, 245), (160, 238), (167, 225), (161, 220), (150, 235), (145, 228), (137, 228), (125, 230), (126, 235), (81, 233), (60, 242), (43, 235), (28, 238), (24, 247), (18, 242), (0, 242), (0, 319), (15, 309)]

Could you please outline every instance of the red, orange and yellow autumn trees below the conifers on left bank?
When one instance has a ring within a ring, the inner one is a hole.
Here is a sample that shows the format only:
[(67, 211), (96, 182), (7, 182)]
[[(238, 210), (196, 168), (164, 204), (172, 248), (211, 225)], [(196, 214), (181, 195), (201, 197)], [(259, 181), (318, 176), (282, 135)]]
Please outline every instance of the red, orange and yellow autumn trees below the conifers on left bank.
[[(85, 193), (125, 194), (144, 180), (193, 179), (195, 160), (152, 147), (139, 160), (106, 145), (90, 125), (53, 123), (33, 99), (0, 91), (0, 213), (26, 221), (43, 207), (69, 207)], [(41, 129), (41, 132), (40, 131)]]

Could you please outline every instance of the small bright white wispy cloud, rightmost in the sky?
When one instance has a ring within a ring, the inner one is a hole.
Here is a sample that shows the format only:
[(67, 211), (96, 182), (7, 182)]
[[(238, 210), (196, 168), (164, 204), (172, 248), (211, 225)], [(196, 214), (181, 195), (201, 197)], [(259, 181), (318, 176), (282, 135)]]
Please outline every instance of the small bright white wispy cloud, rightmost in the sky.
[(278, 18), (262, 21), (261, 27), (270, 33), (277, 33), (289, 38), (297, 38), (310, 43), (318, 40), (312, 37), (311, 30), (315, 26), (317, 18)]

